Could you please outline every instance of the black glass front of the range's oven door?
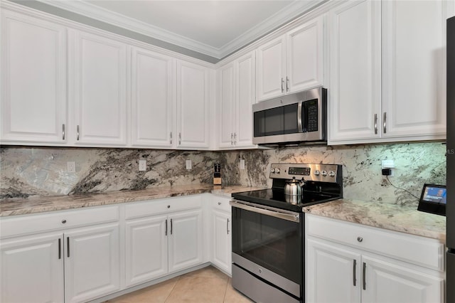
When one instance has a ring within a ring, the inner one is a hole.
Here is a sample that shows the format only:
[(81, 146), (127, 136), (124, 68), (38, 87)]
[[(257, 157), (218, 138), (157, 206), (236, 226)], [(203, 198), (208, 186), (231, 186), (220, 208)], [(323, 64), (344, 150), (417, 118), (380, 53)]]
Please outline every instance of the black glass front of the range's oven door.
[(302, 223), (232, 208), (232, 224), (232, 252), (302, 282)]

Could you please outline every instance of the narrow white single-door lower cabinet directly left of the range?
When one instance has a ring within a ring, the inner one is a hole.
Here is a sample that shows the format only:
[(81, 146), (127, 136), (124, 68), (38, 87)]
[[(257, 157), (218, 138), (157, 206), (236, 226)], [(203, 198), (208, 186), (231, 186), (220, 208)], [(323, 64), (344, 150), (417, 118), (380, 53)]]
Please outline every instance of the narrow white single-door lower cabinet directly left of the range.
[(231, 275), (232, 229), (230, 198), (213, 197), (210, 212), (210, 229), (212, 230), (210, 261), (220, 270)]

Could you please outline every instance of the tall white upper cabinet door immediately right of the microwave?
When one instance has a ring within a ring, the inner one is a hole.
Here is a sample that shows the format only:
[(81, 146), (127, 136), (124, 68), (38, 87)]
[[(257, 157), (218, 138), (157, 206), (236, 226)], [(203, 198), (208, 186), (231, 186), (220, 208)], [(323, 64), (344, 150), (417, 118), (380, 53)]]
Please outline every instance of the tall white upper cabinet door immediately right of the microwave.
[(332, 144), (380, 137), (380, 17), (380, 1), (348, 1), (329, 12)]

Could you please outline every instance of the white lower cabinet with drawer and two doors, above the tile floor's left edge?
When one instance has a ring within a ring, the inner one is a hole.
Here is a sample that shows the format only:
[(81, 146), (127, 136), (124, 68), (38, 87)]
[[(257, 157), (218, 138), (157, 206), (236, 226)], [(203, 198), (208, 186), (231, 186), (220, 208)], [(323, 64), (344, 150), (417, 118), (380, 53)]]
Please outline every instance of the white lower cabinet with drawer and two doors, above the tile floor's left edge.
[(200, 196), (126, 206), (126, 286), (203, 263)]

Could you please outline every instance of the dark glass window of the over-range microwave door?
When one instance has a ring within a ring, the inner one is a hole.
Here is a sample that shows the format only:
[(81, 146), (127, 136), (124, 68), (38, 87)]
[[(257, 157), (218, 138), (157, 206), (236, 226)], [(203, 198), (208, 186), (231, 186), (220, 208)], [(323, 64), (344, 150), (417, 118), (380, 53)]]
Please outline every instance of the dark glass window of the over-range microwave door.
[(297, 121), (298, 107), (299, 103), (294, 103), (255, 112), (255, 137), (294, 134), (299, 132)]

